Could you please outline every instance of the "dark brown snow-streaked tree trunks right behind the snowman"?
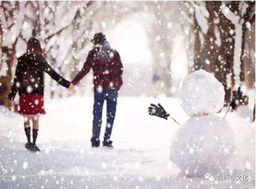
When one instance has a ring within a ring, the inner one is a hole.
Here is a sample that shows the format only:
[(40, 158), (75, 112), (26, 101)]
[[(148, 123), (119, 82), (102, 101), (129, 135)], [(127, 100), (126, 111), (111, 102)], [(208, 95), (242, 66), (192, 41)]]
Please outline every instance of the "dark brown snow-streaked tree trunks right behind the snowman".
[(194, 18), (194, 68), (214, 73), (225, 87), (225, 102), (230, 102), (231, 91), (247, 75), (241, 52), (245, 33), (255, 22), (255, 3), (189, 1), (185, 6)]

